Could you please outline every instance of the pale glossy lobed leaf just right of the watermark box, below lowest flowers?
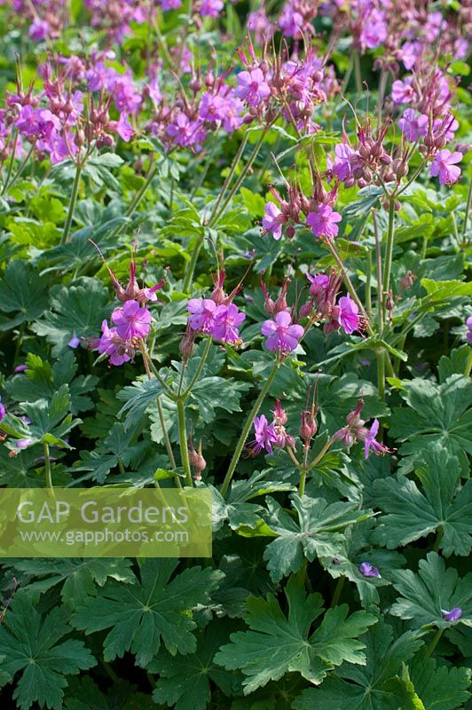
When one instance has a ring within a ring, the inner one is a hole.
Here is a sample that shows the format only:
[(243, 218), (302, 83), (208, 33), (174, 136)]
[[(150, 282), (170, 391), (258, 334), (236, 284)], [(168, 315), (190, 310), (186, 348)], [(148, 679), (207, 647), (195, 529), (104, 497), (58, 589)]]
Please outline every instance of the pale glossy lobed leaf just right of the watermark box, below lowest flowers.
[(323, 498), (292, 495), (292, 505), (298, 523), (273, 498), (267, 498), (269, 515), (267, 525), (278, 535), (267, 546), (264, 560), (271, 578), (279, 581), (290, 572), (298, 572), (306, 557), (312, 562), (317, 556), (335, 555), (347, 525), (364, 518), (358, 503), (336, 502), (327, 504)]

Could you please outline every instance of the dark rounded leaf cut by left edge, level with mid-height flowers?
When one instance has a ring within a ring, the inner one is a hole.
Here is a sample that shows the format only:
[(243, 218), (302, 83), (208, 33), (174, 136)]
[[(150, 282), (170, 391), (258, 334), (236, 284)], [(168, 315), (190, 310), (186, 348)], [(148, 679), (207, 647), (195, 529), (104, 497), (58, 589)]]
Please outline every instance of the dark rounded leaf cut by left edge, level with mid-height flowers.
[(47, 283), (28, 262), (11, 261), (0, 281), (0, 311), (16, 315), (0, 316), (0, 330), (11, 330), (42, 316), (49, 304)]

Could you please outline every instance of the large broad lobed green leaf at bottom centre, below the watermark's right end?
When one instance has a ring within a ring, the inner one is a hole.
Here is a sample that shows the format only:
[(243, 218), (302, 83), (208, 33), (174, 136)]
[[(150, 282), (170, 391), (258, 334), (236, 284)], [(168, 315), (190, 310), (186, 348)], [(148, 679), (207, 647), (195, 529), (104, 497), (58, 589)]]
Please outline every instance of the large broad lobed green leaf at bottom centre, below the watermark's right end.
[(305, 596), (302, 581), (292, 576), (285, 588), (288, 615), (273, 595), (248, 599), (246, 621), (250, 630), (231, 635), (232, 643), (216, 654), (216, 663), (228, 670), (238, 669), (247, 677), (244, 693), (278, 681), (286, 673), (320, 683), (329, 670), (344, 660), (364, 664), (365, 644), (358, 636), (366, 633), (376, 617), (356, 611), (348, 617), (348, 606), (329, 609), (313, 634), (311, 625), (323, 612), (319, 594)]

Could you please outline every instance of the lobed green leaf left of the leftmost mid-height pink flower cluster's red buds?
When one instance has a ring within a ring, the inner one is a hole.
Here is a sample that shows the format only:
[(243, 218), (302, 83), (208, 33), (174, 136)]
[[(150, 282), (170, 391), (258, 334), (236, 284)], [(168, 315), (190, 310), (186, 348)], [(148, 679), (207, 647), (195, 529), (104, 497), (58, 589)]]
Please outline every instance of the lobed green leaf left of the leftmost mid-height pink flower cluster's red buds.
[(45, 337), (54, 357), (59, 357), (74, 334), (79, 338), (97, 336), (110, 308), (108, 292), (98, 279), (83, 277), (80, 285), (53, 288), (51, 293), (51, 311), (44, 313), (32, 330)]

